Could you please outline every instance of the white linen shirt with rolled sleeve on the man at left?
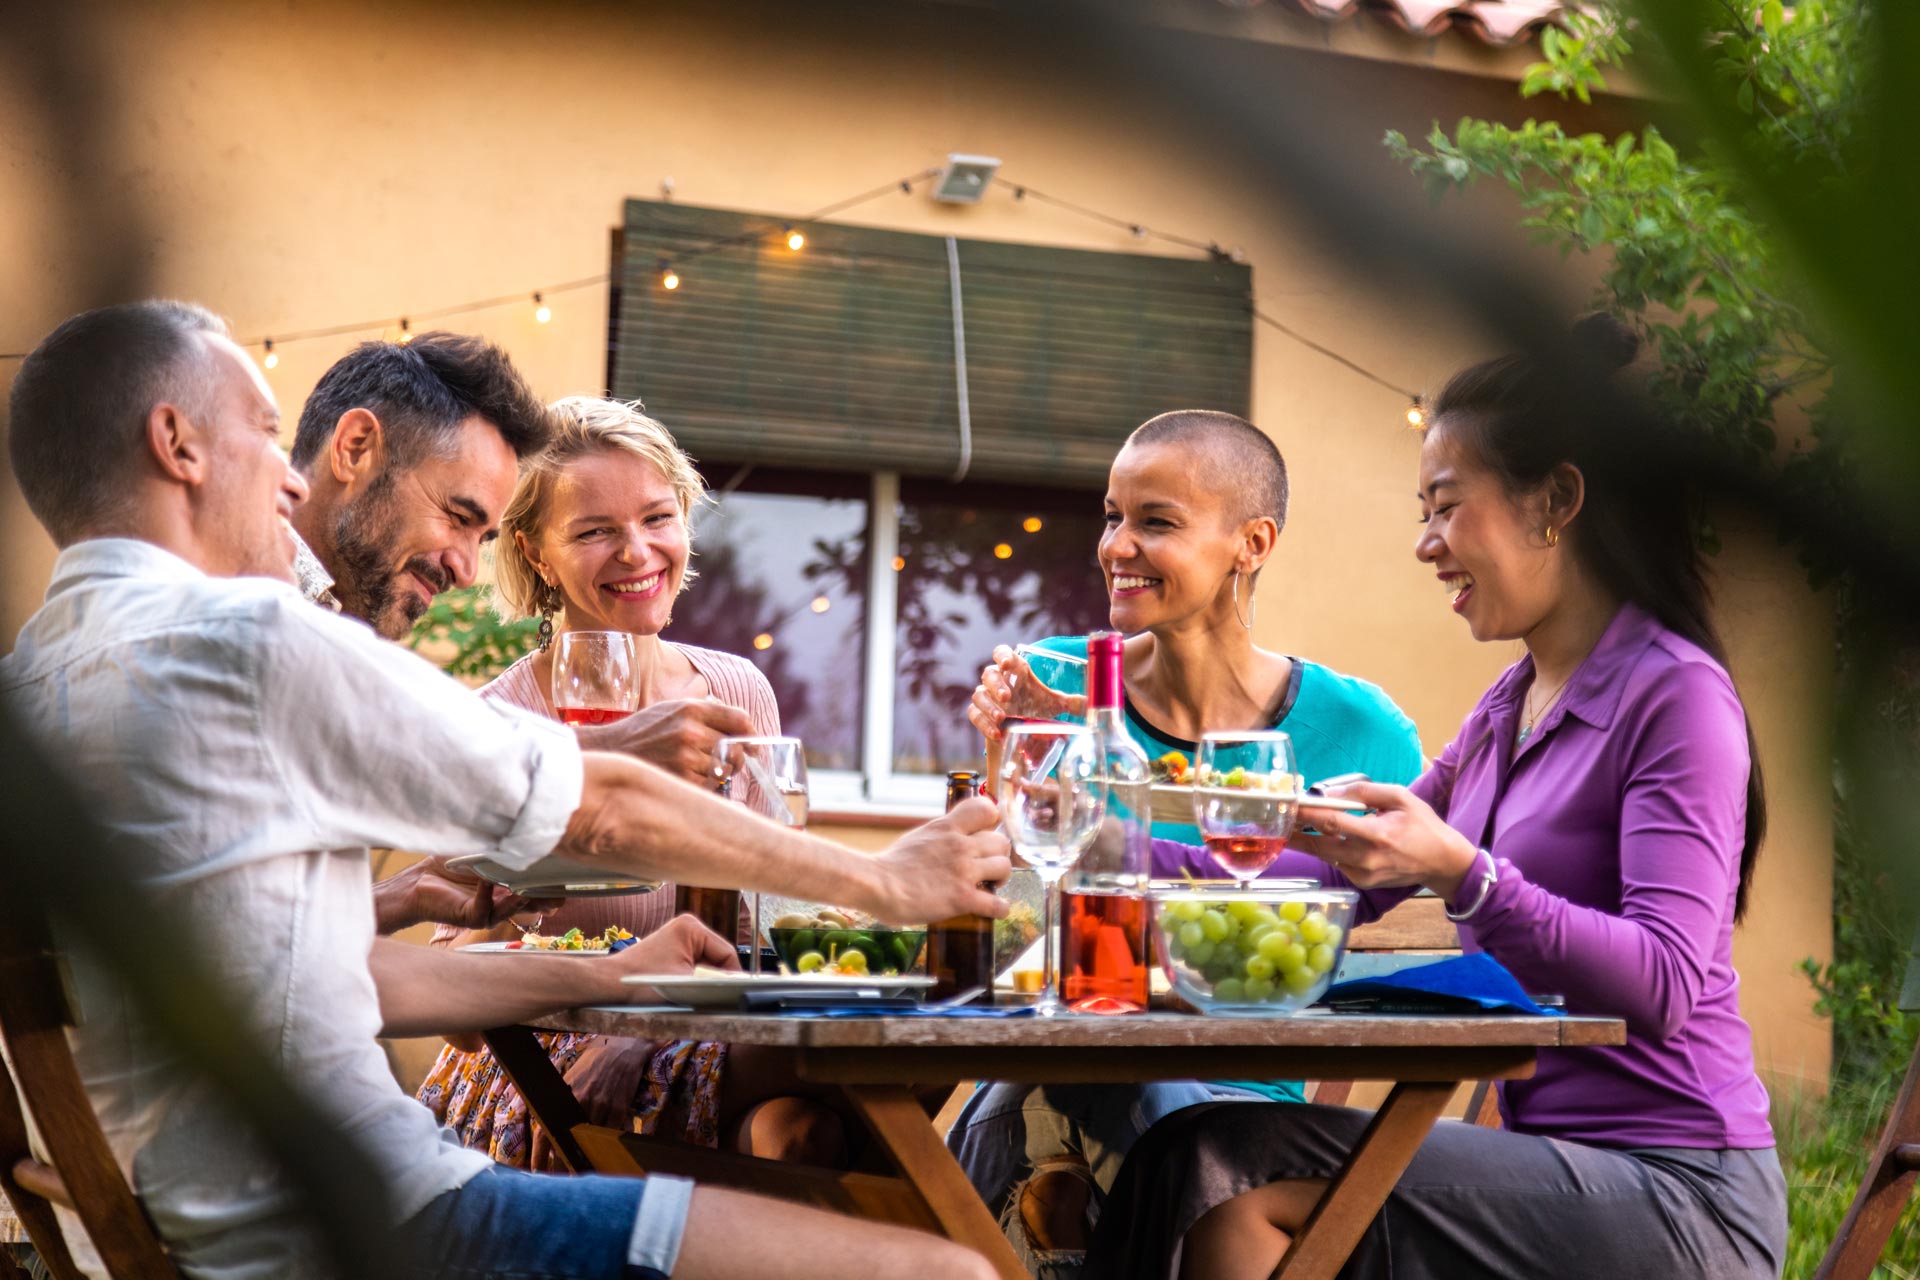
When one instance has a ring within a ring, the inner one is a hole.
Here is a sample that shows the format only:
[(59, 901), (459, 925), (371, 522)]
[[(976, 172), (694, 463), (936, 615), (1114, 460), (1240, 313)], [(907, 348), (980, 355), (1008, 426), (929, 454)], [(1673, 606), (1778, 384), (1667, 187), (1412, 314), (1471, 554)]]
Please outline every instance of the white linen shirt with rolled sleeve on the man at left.
[[(386, 1171), (394, 1222), (490, 1165), (401, 1092), (374, 1042), (367, 848), (490, 852), (513, 867), (551, 852), (584, 779), (566, 727), (484, 702), (288, 583), (209, 578), (132, 539), (60, 555), (46, 603), (0, 658), (0, 697), (148, 867), (140, 889), (200, 925), (194, 940), (250, 1021), (236, 1034), (252, 1031)], [(182, 1268), (323, 1274), (273, 1161), (67, 950), (81, 1077)]]

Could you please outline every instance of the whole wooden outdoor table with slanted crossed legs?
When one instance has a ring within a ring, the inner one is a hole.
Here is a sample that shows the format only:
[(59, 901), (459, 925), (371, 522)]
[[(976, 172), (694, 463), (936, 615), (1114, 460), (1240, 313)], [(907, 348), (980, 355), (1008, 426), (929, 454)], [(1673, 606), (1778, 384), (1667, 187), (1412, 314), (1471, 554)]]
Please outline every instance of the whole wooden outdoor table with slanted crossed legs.
[(783, 1165), (588, 1123), (530, 1027), (488, 1032), (495, 1057), (574, 1171), (678, 1173), (720, 1186), (902, 1222), (981, 1251), (1004, 1280), (1025, 1268), (914, 1100), (914, 1084), (1021, 1080), (1392, 1080), (1346, 1167), (1281, 1263), (1286, 1280), (1334, 1276), (1461, 1080), (1534, 1073), (1542, 1048), (1622, 1044), (1607, 1017), (1227, 1019), (1183, 1013), (1021, 1019), (799, 1019), (749, 1013), (572, 1009), (538, 1023), (651, 1040), (789, 1050), (803, 1080), (835, 1084), (899, 1171)]

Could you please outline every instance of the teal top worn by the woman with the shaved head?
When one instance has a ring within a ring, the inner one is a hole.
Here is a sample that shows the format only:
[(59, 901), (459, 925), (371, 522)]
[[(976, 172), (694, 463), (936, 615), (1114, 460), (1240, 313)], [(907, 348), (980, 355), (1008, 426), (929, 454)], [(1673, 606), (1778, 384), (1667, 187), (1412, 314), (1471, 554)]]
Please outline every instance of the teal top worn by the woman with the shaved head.
[[(1035, 649), (1050, 649), (1075, 658), (1087, 658), (1085, 635), (1056, 635), (1039, 641)], [(1060, 672), (1035, 672), (1060, 693), (1087, 693), (1087, 668), (1073, 666)], [(1052, 679), (1048, 679), (1052, 677)], [(1340, 672), (1292, 658), (1286, 697), (1281, 699), (1281, 714), (1273, 722), (1294, 743), (1294, 764), (1309, 783), (1338, 773), (1365, 773), (1377, 783), (1407, 785), (1427, 768), (1421, 754), (1421, 739), (1405, 712), (1394, 706), (1386, 693), (1365, 679), (1342, 676)], [(1146, 752), (1148, 760), (1158, 760), (1169, 750), (1185, 754), (1188, 760), (1200, 750), (1198, 743), (1177, 739), (1164, 729), (1140, 720), (1133, 699), (1127, 699), (1127, 731)], [(1183, 844), (1200, 844), (1200, 829), (1192, 823), (1156, 821), (1154, 835)], [(1227, 1080), (1235, 1088), (1248, 1088), (1277, 1102), (1306, 1102), (1306, 1092), (1292, 1080), (1261, 1084), (1252, 1080)]]

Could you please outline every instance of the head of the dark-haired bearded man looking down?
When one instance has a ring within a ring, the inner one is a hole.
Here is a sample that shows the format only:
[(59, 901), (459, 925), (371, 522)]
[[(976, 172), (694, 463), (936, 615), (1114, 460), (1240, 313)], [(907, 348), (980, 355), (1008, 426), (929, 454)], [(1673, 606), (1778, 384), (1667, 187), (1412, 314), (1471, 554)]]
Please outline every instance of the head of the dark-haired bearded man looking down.
[(499, 532), (518, 461), (547, 411), (507, 353), (467, 334), (365, 342), (307, 397), (294, 466), (301, 589), (405, 639), (436, 595), (470, 587)]

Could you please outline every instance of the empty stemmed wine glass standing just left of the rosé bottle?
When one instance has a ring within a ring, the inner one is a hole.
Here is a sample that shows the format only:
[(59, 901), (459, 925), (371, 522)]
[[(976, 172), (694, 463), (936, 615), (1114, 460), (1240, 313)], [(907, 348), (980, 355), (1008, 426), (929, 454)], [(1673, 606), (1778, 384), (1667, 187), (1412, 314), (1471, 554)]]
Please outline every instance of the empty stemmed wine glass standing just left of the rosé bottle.
[(1054, 921), (1060, 917), (1060, 877), (1092, 844), (1106, 818), (1100, 750), (1087, 725), (1021, 723), (1006, 731), (1000, 766), (1000, 821), (1014, 852), (1041, 877), (1046, 912), (1044, 969), (1035, 1013), (1064, 1009), (1056, 990)]

